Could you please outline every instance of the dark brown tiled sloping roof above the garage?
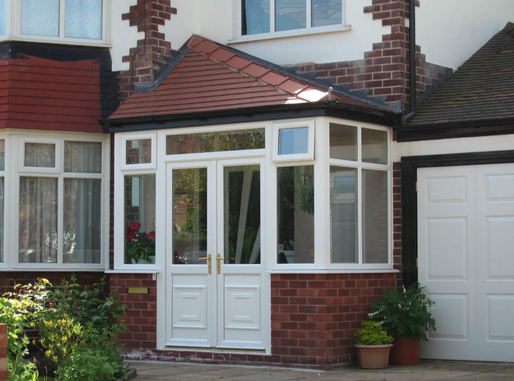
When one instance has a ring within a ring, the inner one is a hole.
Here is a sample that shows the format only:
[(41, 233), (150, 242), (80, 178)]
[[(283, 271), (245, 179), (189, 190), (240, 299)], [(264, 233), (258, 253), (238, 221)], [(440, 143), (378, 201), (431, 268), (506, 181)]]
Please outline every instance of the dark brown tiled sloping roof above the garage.
[(421, 105), (408, 125), (514, 117), (514, 24), (508, 23)]

